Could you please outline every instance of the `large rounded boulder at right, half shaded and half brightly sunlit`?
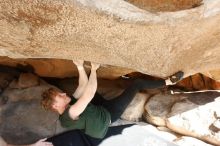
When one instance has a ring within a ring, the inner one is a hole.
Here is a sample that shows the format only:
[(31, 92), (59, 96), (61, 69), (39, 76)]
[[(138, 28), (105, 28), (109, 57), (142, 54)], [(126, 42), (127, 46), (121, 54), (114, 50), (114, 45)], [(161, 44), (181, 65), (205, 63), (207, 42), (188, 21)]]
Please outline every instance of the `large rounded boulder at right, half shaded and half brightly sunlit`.
[[(160, 97), (160, 98), (159, 98)], [(156, 95), (145, 105), (147, 121), (167, 126), (174, 132), (220, 144), (218, 92)]]

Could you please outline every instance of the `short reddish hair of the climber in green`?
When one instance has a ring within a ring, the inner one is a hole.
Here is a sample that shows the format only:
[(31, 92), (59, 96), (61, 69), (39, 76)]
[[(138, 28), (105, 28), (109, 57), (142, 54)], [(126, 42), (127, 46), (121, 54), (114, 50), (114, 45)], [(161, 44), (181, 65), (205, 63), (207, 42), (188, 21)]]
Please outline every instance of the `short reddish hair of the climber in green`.
[(58, 93), (60, 93), (60, 91), (56, 88), (49, 88), (42, 93), (41, 105), (44, 109), (53, 111), (55, 110), (52, 107), (52, 104), (54, 102), (54, 98), (57, 96)]

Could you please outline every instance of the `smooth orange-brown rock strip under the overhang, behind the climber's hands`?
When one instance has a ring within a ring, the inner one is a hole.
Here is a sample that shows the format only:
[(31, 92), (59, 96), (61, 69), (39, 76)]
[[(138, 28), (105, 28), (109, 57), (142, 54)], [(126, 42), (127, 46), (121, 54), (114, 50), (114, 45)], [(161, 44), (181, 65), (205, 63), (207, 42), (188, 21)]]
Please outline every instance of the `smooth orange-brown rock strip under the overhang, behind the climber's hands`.
[[(65, 78), (78, 76), (78, 71), (71, 60), (45, 58), (12, 59), (0, 57), (0, 64), (16, 67), (24, 71), (33, 71), (33, 73), (41, 77)], [(85, 64), (85, 68), (87, 73), (89, 73), (89, 63)], [(97, 73), (99, 78), (115, 79), (133, 71), (132, 69), (107, 65), (101, 66)]]

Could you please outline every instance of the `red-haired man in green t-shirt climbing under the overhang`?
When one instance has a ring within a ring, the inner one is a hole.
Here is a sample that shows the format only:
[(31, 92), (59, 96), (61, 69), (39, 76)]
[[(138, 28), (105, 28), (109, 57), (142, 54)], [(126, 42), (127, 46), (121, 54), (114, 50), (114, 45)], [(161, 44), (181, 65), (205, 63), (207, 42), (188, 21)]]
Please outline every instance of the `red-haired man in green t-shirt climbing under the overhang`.
[[(60, 114), (61, 125), (67, 129), (80, 129), (85, 134), (94, 138), (103, 138), (111, 122), (120, 118), (126, 107), (137, 92), (142, 89), (161, 88), (175, 84), (182, 79), (183, 72), (179, 71), (166, 80), (137, 79), (118, 97), (105, 100), (97, 90), (96, 71), (99, 64), (91, 63), (89, 79), (84, 70), (84, 61), (74, 61), (79, 72), (79, 83), (72, 97), (55, 88), (49, 88), (42, 94), (42, 105), (45, 109), (53, 110)], [(91, 100), (99, 104), (91, 104)]]

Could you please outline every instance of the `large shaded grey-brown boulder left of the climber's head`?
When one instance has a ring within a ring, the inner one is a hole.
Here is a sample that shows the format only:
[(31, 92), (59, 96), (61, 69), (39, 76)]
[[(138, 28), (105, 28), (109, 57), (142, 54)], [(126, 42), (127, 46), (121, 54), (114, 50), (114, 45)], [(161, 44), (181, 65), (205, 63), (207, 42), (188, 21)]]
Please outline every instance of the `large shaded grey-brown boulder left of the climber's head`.
[[(0, 106), (0, 133), (11, 144), (29, 144), (64, 130), (57, 121), (58, 115), (45, 111), (40, 105), (42, 92), (52, 85), (39, 80), (39, 84), (33, 86), (30, 84), (34, 83), (33, 77), (34, 75), (21, 74), (20, 84), (13, 88), (8, 86), (0, 96), (7, 99)], [(23, 78), (27, 80), (22, 82)]]

